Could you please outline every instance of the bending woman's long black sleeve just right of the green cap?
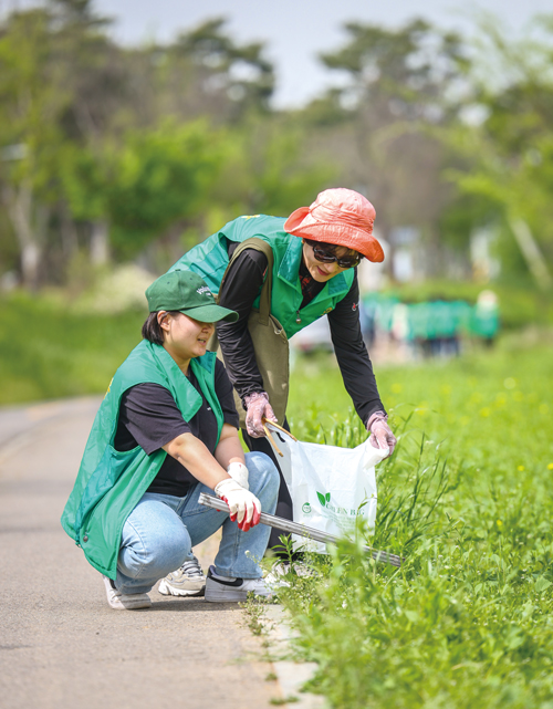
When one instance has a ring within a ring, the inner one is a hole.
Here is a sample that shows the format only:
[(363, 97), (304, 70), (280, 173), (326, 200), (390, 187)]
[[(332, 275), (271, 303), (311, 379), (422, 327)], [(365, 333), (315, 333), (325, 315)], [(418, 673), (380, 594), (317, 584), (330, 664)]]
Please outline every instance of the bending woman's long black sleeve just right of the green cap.
[(246, 249), (230, 267), (219, 291), (219, 304), (239, 314), (236, 323), (218, 322), (217, 336), (227, 374), (241, 398), (252, 392), (263, 390), (263, 377), (255, 362), (248, 317), (263, 284), (267, 264), (267, 257), (261, 251)]

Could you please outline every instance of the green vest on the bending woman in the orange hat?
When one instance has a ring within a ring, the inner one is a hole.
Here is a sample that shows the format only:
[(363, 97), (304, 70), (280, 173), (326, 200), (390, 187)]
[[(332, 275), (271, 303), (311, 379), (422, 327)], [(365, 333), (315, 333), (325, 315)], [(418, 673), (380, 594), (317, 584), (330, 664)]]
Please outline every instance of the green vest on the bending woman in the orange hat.
[[(239, 217), (190, 249), (171, 267), (199, 273), (209, 288), (217, 293), (229, 263), (227, 240), (244, 241), (258, 237), (271, 244), (274, 254), (271, 314), (276, 317), (291, 337), (322, 315), (330, 313), (352, 286), (354, 270), (348, 269), (327, 281), (323, 290), (305, 307), (300, 309), (303, 300), (300, 284), (300, 263), (302, 240), (284, 231), (285, 219), (281, 217)], [(258, 300), (254, 303), (257, 307)], [(300, 320), (300, 322), (296, 322)]]

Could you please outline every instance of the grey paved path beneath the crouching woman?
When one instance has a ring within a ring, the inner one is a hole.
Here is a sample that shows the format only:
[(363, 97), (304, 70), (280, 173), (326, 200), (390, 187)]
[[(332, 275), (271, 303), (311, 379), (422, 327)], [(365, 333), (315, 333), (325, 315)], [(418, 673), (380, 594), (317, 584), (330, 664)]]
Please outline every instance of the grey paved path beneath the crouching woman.
[[(254, 709), (281, 697), (236, 604), (107, 606), (60, 525), (100, 399), (0, 409), (2, 709)], [(199, 549), (202, 565), (216, 542)]]

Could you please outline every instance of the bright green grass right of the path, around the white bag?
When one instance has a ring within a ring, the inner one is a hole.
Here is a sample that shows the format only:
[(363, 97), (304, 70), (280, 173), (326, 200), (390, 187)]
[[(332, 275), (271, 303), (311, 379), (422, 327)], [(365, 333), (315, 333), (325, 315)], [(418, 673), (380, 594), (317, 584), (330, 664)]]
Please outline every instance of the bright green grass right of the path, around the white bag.
[[(294, 374), (292, 431), (357, 445), (340, 375), (310, 366)], [(280, 593), (296, 651), (319, 663), (310, 690), (332, 707), (553, 708), (552, 369), (550, 347), (519, 338), (377, 371), (399, 444), (364, 536), (406, 563), (344, 541)]]

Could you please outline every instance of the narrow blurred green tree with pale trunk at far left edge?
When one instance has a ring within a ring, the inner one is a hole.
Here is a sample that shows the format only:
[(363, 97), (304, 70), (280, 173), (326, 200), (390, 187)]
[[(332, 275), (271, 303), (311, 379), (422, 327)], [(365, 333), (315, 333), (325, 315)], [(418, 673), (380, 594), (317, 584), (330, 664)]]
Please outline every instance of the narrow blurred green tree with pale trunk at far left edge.
[(43, 9), (13, 13), (0, 29), (0, 192), (21, 253), (23, 283), (35, 289), (49, 220), (53, 150), (67, 93), (51, 63), (51, 18)]

